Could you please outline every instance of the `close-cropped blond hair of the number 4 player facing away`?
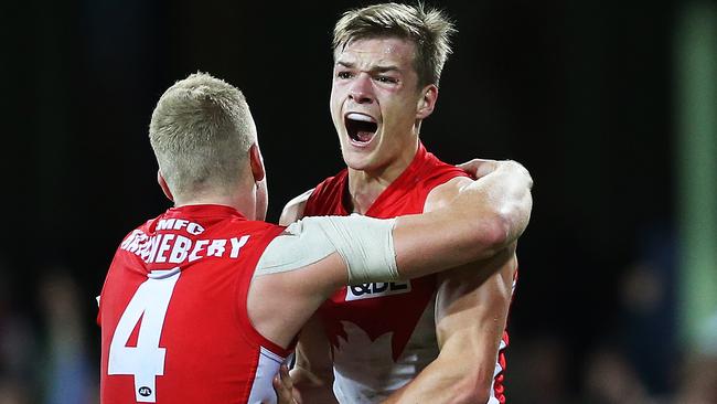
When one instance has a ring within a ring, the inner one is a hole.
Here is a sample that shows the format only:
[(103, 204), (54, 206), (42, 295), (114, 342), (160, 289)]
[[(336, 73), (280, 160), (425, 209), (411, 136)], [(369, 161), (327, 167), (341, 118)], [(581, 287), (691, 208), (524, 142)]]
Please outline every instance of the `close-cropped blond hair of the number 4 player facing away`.
[(226, 189), (256, 141), (249, 106), (233, 85), (205, 73), (174, 83), (157, 103), (149, 140), (174, 195)]

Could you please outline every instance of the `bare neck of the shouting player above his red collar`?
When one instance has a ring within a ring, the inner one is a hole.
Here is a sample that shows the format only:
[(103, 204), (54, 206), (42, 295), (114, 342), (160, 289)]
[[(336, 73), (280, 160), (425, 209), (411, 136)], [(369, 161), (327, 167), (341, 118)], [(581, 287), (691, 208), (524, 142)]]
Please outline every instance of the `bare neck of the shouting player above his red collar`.
[(418, 150), (415, 148), (396, 157), (390, 163), (376, 170), (354, 170), (349, 168), (349, 194), (345, 205), (349, 211), (365, 214), (378, 196), (410, 166)]

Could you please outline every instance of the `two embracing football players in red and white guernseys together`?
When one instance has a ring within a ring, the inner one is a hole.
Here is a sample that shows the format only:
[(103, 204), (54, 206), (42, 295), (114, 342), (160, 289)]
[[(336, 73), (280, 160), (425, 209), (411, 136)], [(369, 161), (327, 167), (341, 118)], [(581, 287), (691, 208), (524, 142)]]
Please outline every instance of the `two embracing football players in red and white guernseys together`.
[(420, 4), (344, 13), (330, 105), (347, 168), (289, 202), (281, 225), (264, 222), (242, 93), (193, 74), (162, 95), (150, 142), (174, 208), (132, 231), (108, 270), (103, 403), (505, 402), (532, 179), (513, 161), (459, 169), (421, 145), (452, 31)]

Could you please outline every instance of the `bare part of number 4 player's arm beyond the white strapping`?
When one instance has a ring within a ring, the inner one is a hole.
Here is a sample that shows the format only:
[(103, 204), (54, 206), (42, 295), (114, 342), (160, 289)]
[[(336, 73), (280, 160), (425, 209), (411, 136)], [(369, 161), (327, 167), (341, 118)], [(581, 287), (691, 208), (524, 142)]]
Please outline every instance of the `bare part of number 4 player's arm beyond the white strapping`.
[(402, 276), (490, 258), (523, 233), (533, 205), (527, 170), (514, 161), (484, 161), (475, 171), (488, 173), (461, 187), (443, 208), (396, 220), (394, 244)]

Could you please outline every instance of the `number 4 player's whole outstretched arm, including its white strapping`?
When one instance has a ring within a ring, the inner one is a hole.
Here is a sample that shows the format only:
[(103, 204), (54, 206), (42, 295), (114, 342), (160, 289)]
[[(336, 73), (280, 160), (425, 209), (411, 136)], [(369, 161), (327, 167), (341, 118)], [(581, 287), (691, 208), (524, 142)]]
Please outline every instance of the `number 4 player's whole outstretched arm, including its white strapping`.
[(287, 227), (255, 270), (247, 299), (255, 328), (287, 347), (342, 285), (424, 276), (513, 244), (527, 226), (532, 179), (515, 162), (493, 164), (434, 212), (396, 220), (306, 217)]

